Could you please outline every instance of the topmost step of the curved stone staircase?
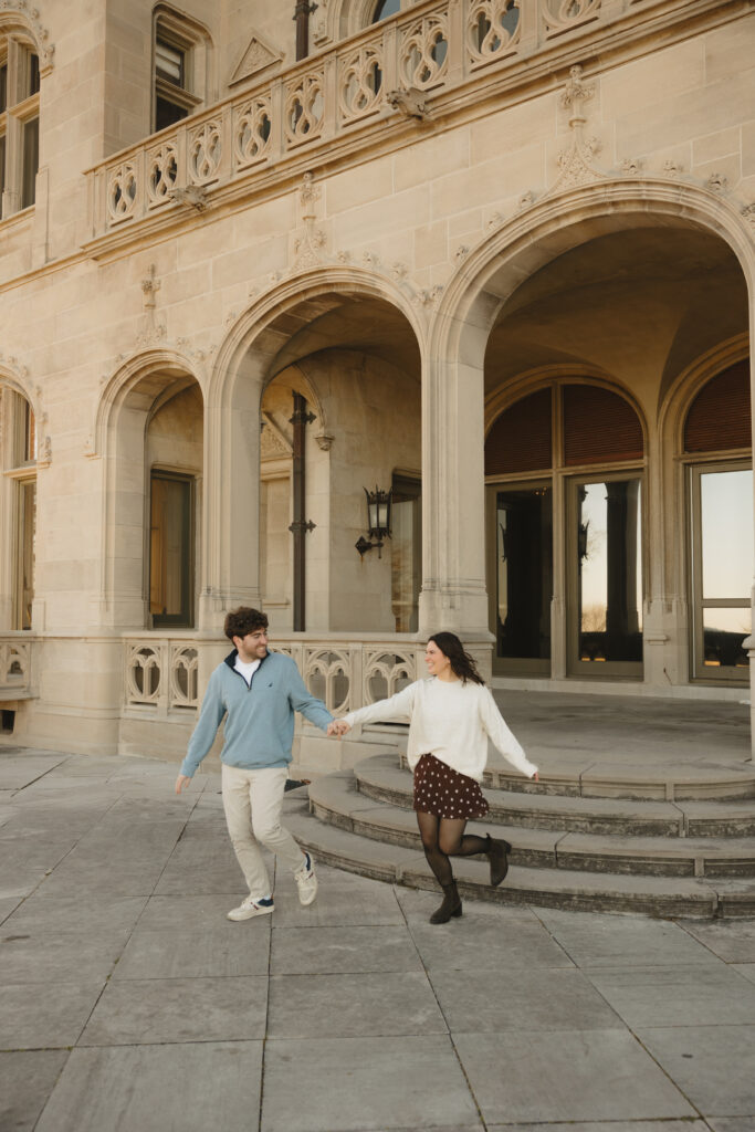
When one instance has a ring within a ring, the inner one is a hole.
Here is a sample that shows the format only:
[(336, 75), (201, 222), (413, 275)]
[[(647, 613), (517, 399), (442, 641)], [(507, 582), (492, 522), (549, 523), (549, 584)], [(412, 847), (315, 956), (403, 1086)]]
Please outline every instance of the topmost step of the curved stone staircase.
[[(755, 798), (755, 767), (723, 766), (720, 763), (599, 762), (594, 758), (565, 760), (559, 754), (532, 755), (540, 764), (540, 781), (524, 778), (491, 752), (484, 772), (489, 790), (514, 794), (560, 795), (569, 798), (627, 798), (637, 801), (719, 801)], [(565, 765), (566, 764), (566, 765)], [(406, 756), (402, 756), (406, 769)]]

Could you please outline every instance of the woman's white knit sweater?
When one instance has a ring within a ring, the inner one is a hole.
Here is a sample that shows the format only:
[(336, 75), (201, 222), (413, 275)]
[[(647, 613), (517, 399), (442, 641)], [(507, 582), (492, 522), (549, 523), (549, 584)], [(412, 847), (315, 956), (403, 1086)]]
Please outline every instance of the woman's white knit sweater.
[(417, 680), (389, 700), (349, 712), (354, 723), (409, 722), (406, 757), (414, 770), (421, 755), (435, 755), (460, 774), (477, 782), (488, 761), (488, 737), (495, 747), (527, 778), (538, 767), (524, 754), (496, 706), (489, 688), (467, 680)]

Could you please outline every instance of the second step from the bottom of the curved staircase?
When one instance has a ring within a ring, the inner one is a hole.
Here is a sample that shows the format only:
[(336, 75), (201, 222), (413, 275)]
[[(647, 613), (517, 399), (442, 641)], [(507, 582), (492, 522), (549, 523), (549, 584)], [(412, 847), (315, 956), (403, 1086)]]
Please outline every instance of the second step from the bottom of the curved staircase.
[[(420, 848), (413, 812), (366, 796), (357, 789), (355, 774), (349, 771), (312, 783), (309, 799), (316, 816), (329, 825), (386, 844)], [(565, 833), (487, 820), (470, 822), (467, 830), (482, 837), (505, 837), (513, 846), (512, 863), (530, 868), (645, 876), (755, 876), (755, 842), (749, 839)]]

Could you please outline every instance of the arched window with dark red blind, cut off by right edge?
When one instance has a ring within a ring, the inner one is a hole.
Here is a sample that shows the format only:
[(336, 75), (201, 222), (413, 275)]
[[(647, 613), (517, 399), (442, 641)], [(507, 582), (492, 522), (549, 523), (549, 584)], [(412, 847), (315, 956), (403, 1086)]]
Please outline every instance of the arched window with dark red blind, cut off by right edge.
[(752, 633), (753, 473), (749, 362), (711, 378), (684, 421), (689, 480), (692, 671), (746, 683)]

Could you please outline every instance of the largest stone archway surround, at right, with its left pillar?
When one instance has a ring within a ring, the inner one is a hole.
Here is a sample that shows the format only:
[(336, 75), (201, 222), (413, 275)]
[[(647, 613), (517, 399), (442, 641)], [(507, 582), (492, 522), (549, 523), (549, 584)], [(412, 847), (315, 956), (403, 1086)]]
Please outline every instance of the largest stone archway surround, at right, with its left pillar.
[[(744, 276), (752, 311), (755, 247), (746, 221), (714, 191), (661, 179), (606, 179), (547, 196), (535, 205), (524, 201), (522, 213), (466, 255), (447, 285), (432, 327), (427, 381), (428, 430), (447, 422), (444, 458), (439, 446), (435, 458), (431, 449), (424, 449), (428, 626), (443, 618), (467, 633), (487, 629), (481, 455), (486, 352), (501, 312), (507, 305), (515, 309), (515, 297), (526, 281), (574, 249), (614, 233), (652, 229), (697, 232), (701, 240), (718, 241)], [(507, 340), (506, 346), (511, 345)], [(533, 360), (559, 363), (558, 357)], [(583, 359), (567, 353), (560, 363), (575, 360)], [(653, 417), (655, 411), (653, 406)], [(661, 484), (653, 481), (650, 490), (657, 492)]]

